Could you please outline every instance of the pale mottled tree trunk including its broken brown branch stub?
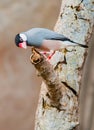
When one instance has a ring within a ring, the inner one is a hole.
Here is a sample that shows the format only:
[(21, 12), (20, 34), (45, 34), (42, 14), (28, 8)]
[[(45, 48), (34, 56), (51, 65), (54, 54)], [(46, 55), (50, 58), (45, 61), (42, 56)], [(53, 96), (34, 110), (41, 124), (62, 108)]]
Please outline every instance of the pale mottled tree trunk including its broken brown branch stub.
[[(55, 31), (88, 44), (93, 31), (93, 0), (63, 0)], [(43, 78), (35, 130), (77, 130), (79, 92), (88, 49), (57, 51), (50, 63), (36, 49), (30, 60)]]

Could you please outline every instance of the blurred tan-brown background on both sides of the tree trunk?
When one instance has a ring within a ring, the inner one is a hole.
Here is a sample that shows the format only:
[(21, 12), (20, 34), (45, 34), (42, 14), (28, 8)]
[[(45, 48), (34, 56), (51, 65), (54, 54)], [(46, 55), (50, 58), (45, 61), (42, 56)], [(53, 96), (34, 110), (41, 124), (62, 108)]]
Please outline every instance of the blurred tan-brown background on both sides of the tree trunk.
[[(17, 48), (14, 37), (32, 27), (53, 29), (60, 4), (61, 0), (0, 0), (0, 130), (34, 130), (41, 78), (30, 63), (30, 48)], [(94, 95), (93, 51), (94, 44), (84, 70), (82, 104)]]

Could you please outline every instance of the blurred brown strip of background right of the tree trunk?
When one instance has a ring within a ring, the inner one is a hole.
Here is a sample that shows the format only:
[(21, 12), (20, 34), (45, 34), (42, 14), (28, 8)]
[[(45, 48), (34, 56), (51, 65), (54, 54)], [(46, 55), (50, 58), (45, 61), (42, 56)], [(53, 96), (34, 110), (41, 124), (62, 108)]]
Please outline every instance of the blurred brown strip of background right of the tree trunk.
[(94, 33), (89, 44), (81, 88), (81, 130), (94, 130)]

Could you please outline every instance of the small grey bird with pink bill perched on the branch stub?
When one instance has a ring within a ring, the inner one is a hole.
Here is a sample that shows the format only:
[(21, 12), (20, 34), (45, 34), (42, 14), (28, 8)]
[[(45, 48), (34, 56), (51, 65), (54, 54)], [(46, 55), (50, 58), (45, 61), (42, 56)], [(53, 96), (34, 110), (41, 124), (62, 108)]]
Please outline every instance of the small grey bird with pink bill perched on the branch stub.
[(27, 46), (36, 47), (41, 50), (41, 53), (50, 54), (49, 58), (52, 57), (55, 51), (67, 46), (88, 48), (87, 45), (74, 42), (70, 38), (46, 28), (32, 28), (18, 33), (15, 36), (15, 44), (17, 47), (24, 49)]

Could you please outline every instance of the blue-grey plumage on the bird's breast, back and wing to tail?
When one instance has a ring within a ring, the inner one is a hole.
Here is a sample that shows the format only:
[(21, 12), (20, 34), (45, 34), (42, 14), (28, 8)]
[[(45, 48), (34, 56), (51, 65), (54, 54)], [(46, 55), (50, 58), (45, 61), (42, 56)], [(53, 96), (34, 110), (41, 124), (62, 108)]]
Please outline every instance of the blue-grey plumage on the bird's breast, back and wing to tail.
[(27, 32), (23, 32), (28, 39), (28, 45), (29, 46), (37, 46), (40, 47), (43, 40), (60, 40), (60, 41), (69, 41), (73, 44), (78, 44), (81, 47), (85, 47), (87, 48), (86, 45), (82, 45), (79, 43), (76, 43), (72, 40), (70, 40), (69, 38), (65, 37), (62, 34), (58, 34), (54, 31), (51, 31), (49, 29), (45, 29), (45, 28), (32, 28), (31, 30), (27, 31)]

